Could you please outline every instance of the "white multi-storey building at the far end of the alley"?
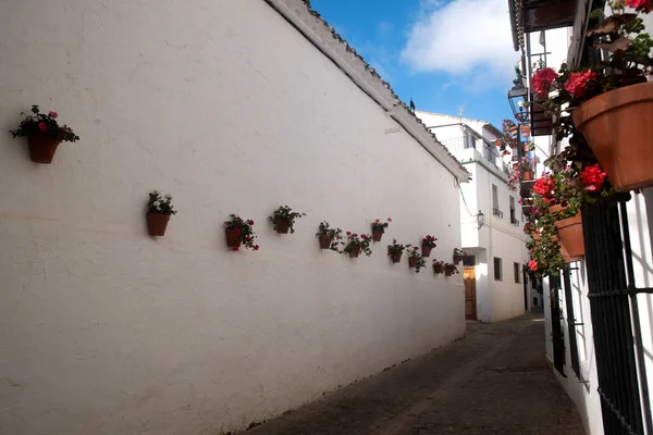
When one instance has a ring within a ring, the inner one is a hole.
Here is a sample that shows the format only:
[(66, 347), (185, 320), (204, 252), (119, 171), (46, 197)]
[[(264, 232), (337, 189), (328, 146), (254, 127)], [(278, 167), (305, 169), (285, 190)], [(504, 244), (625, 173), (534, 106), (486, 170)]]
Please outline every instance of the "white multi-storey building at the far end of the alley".
[(519, 194), (508, 188), (508, 166), (494, 144), (502, 132), (483, 121), (416, 114), (471, 173), (471, 182), (460, 186), (467, 319), (496, 322), (523, 314), (532, 302), (522, 274), (527, 238)]

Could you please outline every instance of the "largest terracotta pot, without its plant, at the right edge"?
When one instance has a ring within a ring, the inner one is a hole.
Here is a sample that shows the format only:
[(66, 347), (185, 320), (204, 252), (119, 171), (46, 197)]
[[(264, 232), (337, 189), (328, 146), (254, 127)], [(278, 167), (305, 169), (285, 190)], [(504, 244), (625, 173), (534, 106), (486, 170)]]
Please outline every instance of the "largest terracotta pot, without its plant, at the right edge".
[(653, 83), (601, 94), (571, 119), (616, 190), (653, 186)]

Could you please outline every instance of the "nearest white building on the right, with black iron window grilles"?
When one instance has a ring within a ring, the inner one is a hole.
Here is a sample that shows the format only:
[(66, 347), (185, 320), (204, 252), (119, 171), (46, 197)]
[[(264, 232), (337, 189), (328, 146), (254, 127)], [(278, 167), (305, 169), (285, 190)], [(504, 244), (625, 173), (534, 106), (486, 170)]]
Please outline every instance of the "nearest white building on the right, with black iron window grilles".
[[(589, 12), (604, 1), (509, 3), (525, 64), (539, 52), (556, 70), (562, 61), (588, 66), (603, 55), (584, 36), (593, 26)], [(644, 23), (653, 32), (653, 16)], [(552, 150), (565, 146), (538, 140)], [(583, 212), (586, 259), (544, 282), (546, 355), (588, 435), (653, 434), (653, 189), (631, 195), (623, 207)]]

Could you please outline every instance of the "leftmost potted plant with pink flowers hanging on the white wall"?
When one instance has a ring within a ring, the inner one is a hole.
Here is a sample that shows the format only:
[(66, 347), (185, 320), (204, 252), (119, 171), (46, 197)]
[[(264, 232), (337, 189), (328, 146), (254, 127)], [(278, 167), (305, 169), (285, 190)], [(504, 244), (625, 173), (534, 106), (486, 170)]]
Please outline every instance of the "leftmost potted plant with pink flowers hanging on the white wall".
[(21, 112), (26, 117), (21, 121), (19, 128), (11, 130), (12, 137), (27, 137), (29, 158), (33, 162), (49, 164), (52, 162), (57, 147), (61, 141), (74, 142), (79, 140), (67, 125), (59, 125), (54, 111), (40, 113), (38, 105), (32, 105), (32, 114)]

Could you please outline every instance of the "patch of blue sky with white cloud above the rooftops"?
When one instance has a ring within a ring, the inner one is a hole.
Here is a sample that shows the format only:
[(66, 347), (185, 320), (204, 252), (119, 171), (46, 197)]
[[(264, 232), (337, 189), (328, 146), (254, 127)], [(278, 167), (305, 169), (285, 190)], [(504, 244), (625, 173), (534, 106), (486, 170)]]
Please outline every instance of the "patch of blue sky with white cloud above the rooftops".
[(519, 53), (507, 0), (311, 0), (356, 51), (418, 110), (490, 121), (506, 99)]

